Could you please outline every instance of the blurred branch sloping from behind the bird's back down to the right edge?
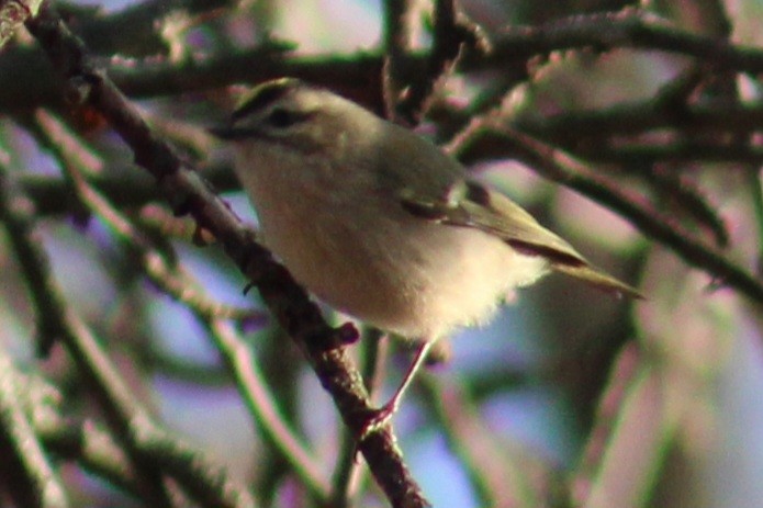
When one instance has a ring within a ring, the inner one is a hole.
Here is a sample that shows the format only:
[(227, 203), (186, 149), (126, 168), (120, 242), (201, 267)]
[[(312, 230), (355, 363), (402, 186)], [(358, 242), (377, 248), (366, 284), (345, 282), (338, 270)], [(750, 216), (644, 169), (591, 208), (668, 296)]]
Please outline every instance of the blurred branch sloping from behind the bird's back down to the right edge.
[[(491, 149), (484, 149), (485, 146)], [(505, 125), (500, 115), (475, 120), (450, 145), (450, 151), (462, 161), (474, 158), (512, 157), (525, 162), (539, 174), (574, 189), (603, 204), (630, 222), (648, 238), (671, 248), (687, 263), (708, 272), (723, 285), (738, 290), (749, 298), (763, 302), (763, 283), (733, 264), (721, 252), (704, 245), (655, 210), (638, 203), (613, 182), (591, 170), (569, 154)]]

